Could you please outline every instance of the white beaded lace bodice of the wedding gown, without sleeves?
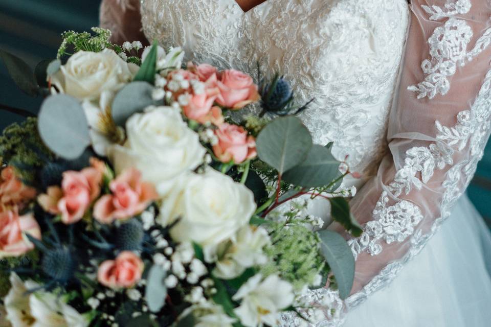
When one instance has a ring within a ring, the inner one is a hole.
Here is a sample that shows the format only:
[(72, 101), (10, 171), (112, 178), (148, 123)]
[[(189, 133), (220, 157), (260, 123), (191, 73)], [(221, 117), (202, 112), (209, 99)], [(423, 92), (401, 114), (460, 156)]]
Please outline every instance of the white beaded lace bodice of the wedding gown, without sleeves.
[(143, 0), (149, 39), (188, 60), (257, 76), (284, 74), (319, 144), (368, 177), (386, 148), (389, 107), (406, 38), (406, 0), (272, 0), (243, 13), (235, 0)]

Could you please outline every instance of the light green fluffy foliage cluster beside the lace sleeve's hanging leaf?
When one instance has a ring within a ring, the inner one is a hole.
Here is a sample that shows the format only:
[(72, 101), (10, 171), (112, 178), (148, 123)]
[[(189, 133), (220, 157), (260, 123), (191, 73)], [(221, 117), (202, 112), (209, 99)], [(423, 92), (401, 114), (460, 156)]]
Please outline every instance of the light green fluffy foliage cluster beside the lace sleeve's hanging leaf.
[(273, 245), (264, 251), (272, 260), (261, 267), (263, 275), (279, 273), (298, 291), (304, 285), (313, 285), (318, 274), (326, 274), (317, 233), (300, 221), (289, 222), (288, 226), (284, 223), (269, 226)]

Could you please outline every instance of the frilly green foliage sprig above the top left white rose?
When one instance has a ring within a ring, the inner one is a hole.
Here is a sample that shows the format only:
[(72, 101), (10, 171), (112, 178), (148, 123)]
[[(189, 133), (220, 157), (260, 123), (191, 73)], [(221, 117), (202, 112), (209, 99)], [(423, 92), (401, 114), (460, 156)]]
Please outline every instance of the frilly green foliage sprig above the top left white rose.
[[(117, 54), (124, 52), (121, 46), (109, 41), (111, 31), (100, 27), (93, 27), (92, 31), (95, 35), (88, 32), (77, 33), (75, 31), (66, 31), (62, 33), (61, 37), (63, 38), (63, 41), (58, 49), (57, 58), (71, 55), (71, 53), (67, 52), (69, 47), (73, 47), (74, 53), (78, 51), (101, 52), (104, 49), (114, 50)], [(141, 64), (141, 59), (135, 56), (127, 57), (126, 61), (138, 65)]]

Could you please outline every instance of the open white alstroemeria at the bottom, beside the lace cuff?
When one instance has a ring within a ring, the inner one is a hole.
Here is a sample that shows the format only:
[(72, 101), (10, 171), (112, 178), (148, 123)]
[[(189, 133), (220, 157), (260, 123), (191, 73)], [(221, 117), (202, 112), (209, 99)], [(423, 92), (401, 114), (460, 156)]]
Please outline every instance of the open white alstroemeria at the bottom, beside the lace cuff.
[(276, 326), (278, 314), (294, 300), (293, 286), (278, 275), (261, 280), (261, 274), (254, 275), (232, 297), (234, 301), (242, 300), (234, 312), (246, 327)]

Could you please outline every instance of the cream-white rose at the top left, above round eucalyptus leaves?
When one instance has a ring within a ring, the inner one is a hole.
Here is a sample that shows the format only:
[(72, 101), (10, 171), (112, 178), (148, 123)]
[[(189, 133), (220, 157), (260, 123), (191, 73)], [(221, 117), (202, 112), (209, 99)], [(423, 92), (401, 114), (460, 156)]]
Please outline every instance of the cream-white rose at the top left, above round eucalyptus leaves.
[(113, 50), (79, 51), (53, 75), (61, 93), (79, 100), (97, 100), (103, 91), (116, 92), (130, 82), (139, 67), (127, 63)]

